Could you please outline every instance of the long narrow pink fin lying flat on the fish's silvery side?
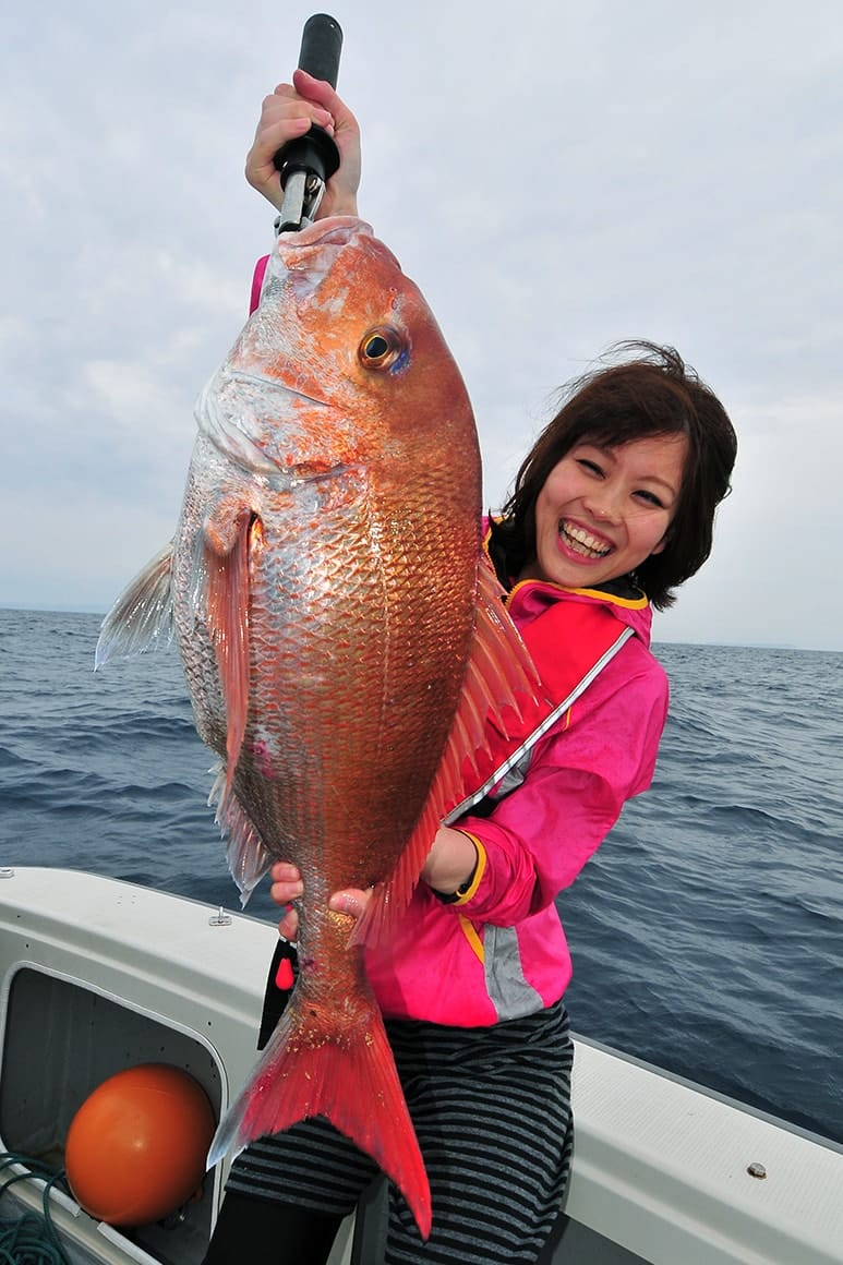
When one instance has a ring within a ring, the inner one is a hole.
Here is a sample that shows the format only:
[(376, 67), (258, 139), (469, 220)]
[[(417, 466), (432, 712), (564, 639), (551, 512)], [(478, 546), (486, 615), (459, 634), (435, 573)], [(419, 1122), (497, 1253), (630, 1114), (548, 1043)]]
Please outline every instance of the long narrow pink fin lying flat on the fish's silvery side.
[(219, 539), (205, 536), (205, 598), (208, 624), (216, 650), (227, 722), (227, 788), (240, 756), (249, 706), (249, 535), (252, 514), (240, 507), (228, 525), (222, 553)]

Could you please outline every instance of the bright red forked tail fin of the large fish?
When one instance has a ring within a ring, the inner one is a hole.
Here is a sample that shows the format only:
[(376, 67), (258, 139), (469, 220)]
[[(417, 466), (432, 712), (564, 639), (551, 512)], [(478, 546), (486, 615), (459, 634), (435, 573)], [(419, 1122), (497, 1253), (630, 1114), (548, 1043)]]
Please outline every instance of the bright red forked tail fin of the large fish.
[(287, 1006), (216, 1130), (208, 1166), (257, 1137), (324, 1116), (401, 1190), (427, 1240), (430, 1187), (380, 1011), (372, 1002), (353, 1027), (314, 1040), (300, 1009), (295, 999)]

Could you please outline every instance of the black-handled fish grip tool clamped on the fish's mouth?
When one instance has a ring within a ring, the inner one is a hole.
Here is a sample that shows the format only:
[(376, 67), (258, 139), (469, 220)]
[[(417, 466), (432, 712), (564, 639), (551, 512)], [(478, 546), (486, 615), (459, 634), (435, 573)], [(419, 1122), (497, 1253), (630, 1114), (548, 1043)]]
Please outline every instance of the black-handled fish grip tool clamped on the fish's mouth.
[[(308, 18), (301, 33), (299, 70), (337, 87), (343, 33), (335, 18), (316, 13)], [(281, 173), (284, 202), (276, 223), (278, 233), (297, 233), (311, 223), (325, 185), (339, 167), (339, 151), (333, 138), (318, 126), (297, 140), (290, 140), (275, 154)]]

